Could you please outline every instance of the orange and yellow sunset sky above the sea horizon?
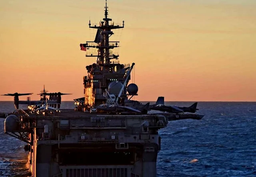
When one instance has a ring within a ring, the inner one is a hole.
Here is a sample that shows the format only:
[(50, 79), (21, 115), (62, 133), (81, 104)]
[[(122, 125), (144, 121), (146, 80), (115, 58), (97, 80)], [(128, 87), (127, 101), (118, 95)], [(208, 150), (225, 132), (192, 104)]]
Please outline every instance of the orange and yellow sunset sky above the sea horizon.
[[(49, 92), (82, 97), (80, 43), (104, 18), (104, 0), (0, 0), (0, 94)], [(124, 27), (120, 62), (135, 63), (136, 100), (256, 101), (256, 0), (108, 0)], [(133, 81), (134, 82), (134, 81)], [(20, 100), (26, 100), (26, 96)], [(13, 97), (0, 96), (0, 100)]]

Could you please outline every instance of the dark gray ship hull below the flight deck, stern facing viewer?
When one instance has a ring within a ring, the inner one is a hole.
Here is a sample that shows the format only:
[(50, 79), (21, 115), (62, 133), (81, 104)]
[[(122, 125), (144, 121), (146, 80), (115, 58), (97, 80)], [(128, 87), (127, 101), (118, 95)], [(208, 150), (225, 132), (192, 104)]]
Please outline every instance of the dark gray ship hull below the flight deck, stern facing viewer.
[(163, 115), (16, 115), (5, 133), (28, 143), (33, 177), (156, 177)]

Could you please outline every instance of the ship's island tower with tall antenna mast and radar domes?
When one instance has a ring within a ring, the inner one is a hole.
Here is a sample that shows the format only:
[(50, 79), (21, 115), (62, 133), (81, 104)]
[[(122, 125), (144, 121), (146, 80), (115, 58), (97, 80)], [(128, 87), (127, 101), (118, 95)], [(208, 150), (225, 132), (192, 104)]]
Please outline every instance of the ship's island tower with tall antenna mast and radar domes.
[[(91, 24), (89, 21), (89, 28), (97, 29), (95, 40), (80, 44), (81, 50), (87, 50), (86, 57), (96, 57), (97, 62), (86, 66), (88, 76), (84, 76), (83, 79), (85, 95), (84, 98), (78, 99), (82, 100), (82, 107), (78, 107), (78, 110), (92, 111), (91, 108), (102, 103), (120, 103), (126, 101), (129, 95), (137, 95), (136, 84), (128, 86), (134, 63), (132, 66), (120, 64), (118, 53), (112, 51), (119, 47), (119, 41), (110, 41), (110, 36), (114, 34), (112, 30), (124, 28), (124, 21), (122, 24), (112, 22), (112, 19), (108, 18), (107, 4), (104, 15), (103, 21), (99, 24)], [(90, 48), (96, 48), (98, 51), (88, 52)], [(77, 103), (79, 105), (79, 101)]]

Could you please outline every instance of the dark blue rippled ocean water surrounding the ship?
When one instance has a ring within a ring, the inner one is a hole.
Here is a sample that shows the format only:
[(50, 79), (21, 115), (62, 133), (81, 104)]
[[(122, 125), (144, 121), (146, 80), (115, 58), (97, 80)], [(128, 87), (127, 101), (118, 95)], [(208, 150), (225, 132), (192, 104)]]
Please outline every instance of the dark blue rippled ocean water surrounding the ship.
[[(63, 101), (61, 107), (72, 109), (73, 102)], [(159, 131), (162, 143), (157, 176), (256, 176), (256, 102), (199, 102), (198, 108), (198, 113), (205, 115), (202, 120), (170, 121)], [(12, 101), (0, 101), (0, 112), (13, 110)], [(4, 119), (0, 119), (1, 177), (28, 175), (24, 144), (4, 133)]]

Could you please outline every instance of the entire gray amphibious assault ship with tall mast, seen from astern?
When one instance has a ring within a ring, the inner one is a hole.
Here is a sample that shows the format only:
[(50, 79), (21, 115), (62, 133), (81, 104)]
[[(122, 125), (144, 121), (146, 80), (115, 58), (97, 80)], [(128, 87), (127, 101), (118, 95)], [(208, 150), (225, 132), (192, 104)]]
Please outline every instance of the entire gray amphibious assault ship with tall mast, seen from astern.
[(107, 4), (104, 12), (102, 22), (89, 22), (97, 29), (95, 40), (80, 44), (97, 61), (86, 66), (84, 97), (74, 99), (75, 109), (50, 108), (48, 104), (60, 105), (52, 96), (39, 107), (6, 115), (5, 133), (27, 143), (33, 177), (156, 177), (158, 130), (168, 120), (147, 114), (149, 103), (130, 99), (138, 92), (136, 84), (128, 85), (134, 63), (120, 64), (112, 52), (119, 42), (110, 40), (124, 21), (112, 23)]

